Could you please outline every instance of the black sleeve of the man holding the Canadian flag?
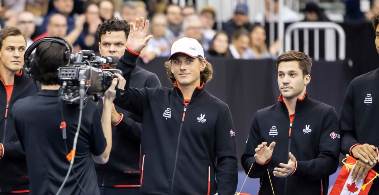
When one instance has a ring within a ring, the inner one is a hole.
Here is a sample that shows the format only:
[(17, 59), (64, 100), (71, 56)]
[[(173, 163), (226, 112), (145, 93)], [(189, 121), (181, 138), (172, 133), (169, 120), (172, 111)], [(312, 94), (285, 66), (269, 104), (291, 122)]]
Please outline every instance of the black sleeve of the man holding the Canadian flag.
[(340, 116), (342, 154), (350, 154), (350, 148), (358, 144), (354, 124), (354, 80), (352, 80), (343, 101)]

